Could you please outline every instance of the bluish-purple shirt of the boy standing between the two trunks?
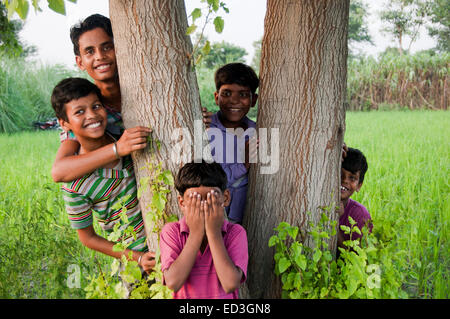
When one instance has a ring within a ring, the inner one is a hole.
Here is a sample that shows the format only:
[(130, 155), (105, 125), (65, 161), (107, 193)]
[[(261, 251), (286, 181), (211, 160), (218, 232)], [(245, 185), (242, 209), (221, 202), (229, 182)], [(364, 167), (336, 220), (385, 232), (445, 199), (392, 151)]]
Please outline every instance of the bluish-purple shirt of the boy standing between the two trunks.
[[(211, 117), (207, 130), (211, 155), (227, 174), (231, 202), (225, 208), (228, 218), (242, 222), (247, 201), (248, 171), (245, 167), (245, 142), (256, 132), (256, 123), (248, 117), (243, 118), (247, 129), (240, 136), (233, 134), (232, 129), (223, 126), (219, 120), (220, 111)], [(237, 132), (237, 131), (235, 131)]]

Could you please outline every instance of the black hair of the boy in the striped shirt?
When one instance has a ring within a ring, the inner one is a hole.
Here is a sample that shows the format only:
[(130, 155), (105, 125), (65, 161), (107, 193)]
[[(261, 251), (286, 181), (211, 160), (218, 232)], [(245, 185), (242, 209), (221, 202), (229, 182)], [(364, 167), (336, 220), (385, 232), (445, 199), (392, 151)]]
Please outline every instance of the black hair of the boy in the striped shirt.
[(67, 78), (60, 81), (53, 89), (51, 102), (58, 119), (68, 121), (66, 104), (72, 100), (78, 100), (91, 93), (97, 94), (102, 102), (100, 89), (91, 81), (83, 78)]

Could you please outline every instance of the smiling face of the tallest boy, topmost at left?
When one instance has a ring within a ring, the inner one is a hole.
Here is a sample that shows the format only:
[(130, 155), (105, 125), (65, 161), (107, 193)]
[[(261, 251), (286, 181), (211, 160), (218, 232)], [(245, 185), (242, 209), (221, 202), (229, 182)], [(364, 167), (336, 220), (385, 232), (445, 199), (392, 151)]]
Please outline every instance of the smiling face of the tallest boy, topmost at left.
[(95, 82), (117, 77), (116, 53), (113, 39), (102, 28), (83, 33), (78, 44), (80, 55), (75, 56), (78, 67)]

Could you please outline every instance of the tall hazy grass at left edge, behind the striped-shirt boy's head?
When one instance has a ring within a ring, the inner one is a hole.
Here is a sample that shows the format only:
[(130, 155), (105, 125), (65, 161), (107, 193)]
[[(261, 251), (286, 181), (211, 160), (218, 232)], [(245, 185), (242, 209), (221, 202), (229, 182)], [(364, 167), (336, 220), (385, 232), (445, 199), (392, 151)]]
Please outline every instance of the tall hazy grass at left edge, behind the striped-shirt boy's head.
[(33, 121), (54, 117), (50, 95), (63, 78), (83, 76), (62, 65), (24, 59), (0, 59), (0, 133), (32, 128)]

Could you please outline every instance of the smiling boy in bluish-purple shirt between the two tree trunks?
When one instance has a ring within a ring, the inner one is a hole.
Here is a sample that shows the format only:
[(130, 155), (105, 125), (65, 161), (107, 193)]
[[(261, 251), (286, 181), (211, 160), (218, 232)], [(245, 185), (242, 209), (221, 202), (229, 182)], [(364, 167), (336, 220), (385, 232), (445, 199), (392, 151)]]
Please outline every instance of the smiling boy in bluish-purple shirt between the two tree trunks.
[(246, 115), (256, 104), (259, 79), (251, 67), (229, 63), (216, 71), (214, 81), (214, 99), (220, 111), (211, 116), (207, 130), (211, 155), (227, 175), (228, 218), (241, 223), (247, 200), (249, 139), (256, 132), (256, 123)]

